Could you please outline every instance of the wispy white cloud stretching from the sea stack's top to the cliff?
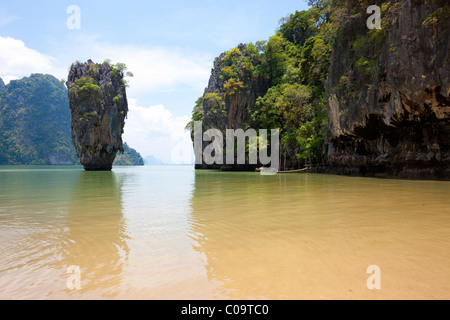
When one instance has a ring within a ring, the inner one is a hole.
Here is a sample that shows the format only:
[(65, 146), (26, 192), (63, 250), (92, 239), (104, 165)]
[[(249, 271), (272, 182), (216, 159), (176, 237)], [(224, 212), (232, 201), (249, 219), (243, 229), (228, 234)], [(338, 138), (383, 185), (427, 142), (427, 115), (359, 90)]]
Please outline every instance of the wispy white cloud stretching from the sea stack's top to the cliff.
[(92, 35), (74, 35), (69, 40), (60, 45), (65, 48), (60, 52), (61, 59), (67, 59), (68, 47), (73, 49), (71, 60), (65, 62), (67, 65), (88, 59), (98, 63), (105, 59), (125, 63), (134, 75), (127, 79), (131, 96), (180, 88), (202, 91), (211, 72), (213, 57), (177, 47), (111, 44)]

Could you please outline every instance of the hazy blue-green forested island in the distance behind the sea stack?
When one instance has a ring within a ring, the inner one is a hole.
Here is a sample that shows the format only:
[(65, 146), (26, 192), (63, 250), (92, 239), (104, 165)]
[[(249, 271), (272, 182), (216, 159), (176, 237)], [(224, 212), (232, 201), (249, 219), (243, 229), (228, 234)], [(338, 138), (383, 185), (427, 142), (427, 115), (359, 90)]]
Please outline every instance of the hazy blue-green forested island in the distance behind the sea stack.
[[(52, 75), (0, 79), (0, 165), (79, 165), (71, 140), (67, 88)], [(144, 165), (124, 143), (116, 166)]]

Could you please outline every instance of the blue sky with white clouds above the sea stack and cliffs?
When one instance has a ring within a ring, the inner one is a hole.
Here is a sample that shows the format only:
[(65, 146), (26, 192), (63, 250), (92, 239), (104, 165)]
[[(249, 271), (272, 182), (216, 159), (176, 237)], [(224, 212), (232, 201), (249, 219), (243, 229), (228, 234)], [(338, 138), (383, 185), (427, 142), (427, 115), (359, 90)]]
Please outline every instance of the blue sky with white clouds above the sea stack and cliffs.
[(134, 74), (123, 140), (144, 158), (193, 163), (184, 128), (214, 58), (267, 40), (281, 18), (304, 9), (306, 0), (2, 1), (0, 77), (67, 79), (75, 61), (123, 62)]

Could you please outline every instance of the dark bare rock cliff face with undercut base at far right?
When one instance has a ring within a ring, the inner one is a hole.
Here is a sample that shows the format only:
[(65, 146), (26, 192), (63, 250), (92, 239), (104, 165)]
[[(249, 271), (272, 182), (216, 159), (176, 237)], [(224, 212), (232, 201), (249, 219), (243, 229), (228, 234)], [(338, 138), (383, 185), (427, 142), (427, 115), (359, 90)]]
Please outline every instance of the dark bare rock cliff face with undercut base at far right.
[(448, 12), (444, 2), (380, 3), (381, 30), (348, 12), (327, 82), (331, 171), (450, 178), (450, 19), (436, 14)]

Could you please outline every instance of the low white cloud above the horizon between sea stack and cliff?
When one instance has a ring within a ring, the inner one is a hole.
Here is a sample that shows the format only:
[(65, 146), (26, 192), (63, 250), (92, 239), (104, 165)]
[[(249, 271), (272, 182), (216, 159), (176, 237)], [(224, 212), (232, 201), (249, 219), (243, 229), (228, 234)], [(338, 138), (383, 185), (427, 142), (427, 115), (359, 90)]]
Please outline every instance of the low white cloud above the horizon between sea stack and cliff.
[(174, 117), (163, 105), (144, 108), (131, 98), (128, 107), (123, 140), (144, 158), (154, 156), (173, 164), (194, 162), (190, 133), (185, 130), (188, 116)]

